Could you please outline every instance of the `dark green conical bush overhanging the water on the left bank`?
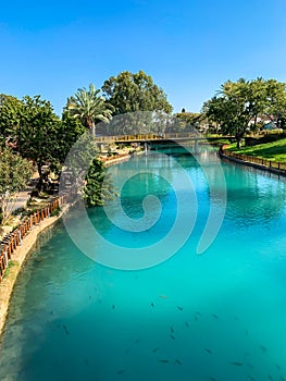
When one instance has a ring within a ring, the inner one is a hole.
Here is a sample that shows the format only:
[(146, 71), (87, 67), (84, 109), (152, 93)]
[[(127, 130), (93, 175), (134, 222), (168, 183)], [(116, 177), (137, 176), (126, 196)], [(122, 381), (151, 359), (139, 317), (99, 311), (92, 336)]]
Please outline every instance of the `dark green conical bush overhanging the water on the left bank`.
[(89, 167), (84, 187), (86, 205), (88, 207), (102, 206), (114, 196), (116, 193), (110, 176), (105, 173), (104, 164), (95, 158)]

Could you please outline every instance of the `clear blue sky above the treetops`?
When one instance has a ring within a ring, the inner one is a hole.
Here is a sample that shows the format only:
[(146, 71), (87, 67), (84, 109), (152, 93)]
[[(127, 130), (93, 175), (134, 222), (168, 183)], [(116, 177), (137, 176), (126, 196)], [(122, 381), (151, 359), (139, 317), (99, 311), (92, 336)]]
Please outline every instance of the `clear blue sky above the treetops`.
[(227, 79), (286, 82), (285, 0), (3, 1), (0, 93), (61, 114), (79, 87), (145, 71), (174, 111), (200, 111)]

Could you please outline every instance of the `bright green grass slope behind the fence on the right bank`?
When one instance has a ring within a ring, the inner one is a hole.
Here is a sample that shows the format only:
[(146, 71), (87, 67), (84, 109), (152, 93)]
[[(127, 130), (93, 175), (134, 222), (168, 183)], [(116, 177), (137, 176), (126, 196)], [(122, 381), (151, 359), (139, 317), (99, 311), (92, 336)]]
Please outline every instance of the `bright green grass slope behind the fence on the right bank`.
[(286, 162), (286, 138), (257, 146), (236, 148), (235, 144), (229, 145), (229, 150), (236, 153), (254, 156), (270, 161)]

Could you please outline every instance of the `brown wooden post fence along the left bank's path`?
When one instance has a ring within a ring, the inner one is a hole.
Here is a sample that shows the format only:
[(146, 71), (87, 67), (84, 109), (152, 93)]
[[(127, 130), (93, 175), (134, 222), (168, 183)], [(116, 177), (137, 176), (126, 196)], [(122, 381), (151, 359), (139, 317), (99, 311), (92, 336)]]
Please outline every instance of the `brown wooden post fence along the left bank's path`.
[(28, 234), (34, 225), (37, 225), (40, 221), (49, 218), (51, 213), (59, 209), (67, 201), (69, 195), (64, 194), (57, 197), (47, 207), (37, 210), (36, 212), (25, 217), (21, 224), (9, 235), (7, 235), (0, 243), (0, 282), (3, 279), (4, 272), (9, 267), (9, 261), (12, 258), (12, 254), (18, 245), (22, 244), (22, 239)]

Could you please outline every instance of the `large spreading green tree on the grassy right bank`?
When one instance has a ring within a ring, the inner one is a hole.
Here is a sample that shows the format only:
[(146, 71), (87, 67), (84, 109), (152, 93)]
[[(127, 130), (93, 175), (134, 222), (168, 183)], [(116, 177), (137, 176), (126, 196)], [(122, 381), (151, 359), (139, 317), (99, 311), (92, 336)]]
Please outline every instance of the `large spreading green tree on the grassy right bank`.
[(219, 95), (203, 105), (203, 111), (223, 133), (234, 135), (237, 147), (240, 147), (245, 133), (250, 127), (256, 130), (259, 116), (283, 121), (283, 115), (286, 115), (286, 85), (263, 78), (227, 81)]

